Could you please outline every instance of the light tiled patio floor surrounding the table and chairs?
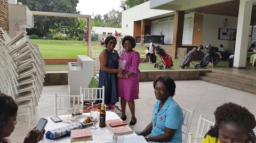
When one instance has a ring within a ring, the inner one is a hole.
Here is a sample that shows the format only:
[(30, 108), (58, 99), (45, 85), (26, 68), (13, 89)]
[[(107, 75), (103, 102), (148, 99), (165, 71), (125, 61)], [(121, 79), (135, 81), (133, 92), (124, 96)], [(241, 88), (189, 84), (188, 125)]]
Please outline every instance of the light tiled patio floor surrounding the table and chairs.
[[(193, 121), (190, 132), (195, 133), (199, 114), (203, 114), (205, 119), (214, 122), (213, 112), (217, 106), (225, 102), (234, 102), (245, 106), (254, 115), (256, 115), (256, 95), (247, 92), (234, 90), (201, 80), (189, 81), (175, 81), (176, 95), (173, 97), (180, 106), (187, 109), (194, 109)], [(43, 94), (39, 99), (39, 106), (37, 106), (37, 113), (33, 128), (41, 117), (53, 116), (54, 108), (54, 93), (61, 95), (68, 95), (68, 86), (44, 86)], [(140, 82), (140, 99), (135, 100), (135, 116), (137, 117), (137, 124), (130, 126), (133, 130), (144, 129), (151, 121), (154, 103), (156, 101), (153, 82)], [(120, 107), (120, 104), (117, 103)], [(115, 112), (121, 116), (117, 110)], [(65, 113), (63, 113), (65, 114)], [(66, 113), (67, 114), (67, 113)], [(130, 122), (130, 110), (126, 106), (126, 122)], [(25, 122), (25, 116), (18, 116), (18, 123), (15, 130), (9, 137), (11, 142), (23, 142), (23, 139), (28, 133), (28, 123)], [(254, 130), (255, 131), (255, 130)]]

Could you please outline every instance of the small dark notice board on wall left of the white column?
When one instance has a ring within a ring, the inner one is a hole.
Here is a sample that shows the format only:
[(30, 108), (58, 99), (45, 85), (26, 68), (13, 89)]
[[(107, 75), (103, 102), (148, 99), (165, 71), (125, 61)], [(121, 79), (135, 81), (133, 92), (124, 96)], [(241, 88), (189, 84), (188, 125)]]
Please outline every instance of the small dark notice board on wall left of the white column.
[(218, 39), (219, 40), (235, 40), (236, 29), (219, 28)]

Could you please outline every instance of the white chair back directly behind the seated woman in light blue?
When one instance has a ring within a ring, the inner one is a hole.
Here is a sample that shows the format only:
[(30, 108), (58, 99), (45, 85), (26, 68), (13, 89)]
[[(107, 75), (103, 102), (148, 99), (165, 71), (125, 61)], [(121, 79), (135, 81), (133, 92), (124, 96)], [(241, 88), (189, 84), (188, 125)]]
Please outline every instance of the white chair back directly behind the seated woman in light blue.
[(182, 124), (182, 135), (185, 137), (182, 137), (182, 142), (187, 142), (188, 140), (188, 133), (189, 133), (189, 129), (190, 129), (190, 125), (192, 122), (192, 117), (194, 114), (194, 110), (187, 110), (186, 108), (180, 107), (182, 112), (183, 112), (183, 119), (184, 122)]

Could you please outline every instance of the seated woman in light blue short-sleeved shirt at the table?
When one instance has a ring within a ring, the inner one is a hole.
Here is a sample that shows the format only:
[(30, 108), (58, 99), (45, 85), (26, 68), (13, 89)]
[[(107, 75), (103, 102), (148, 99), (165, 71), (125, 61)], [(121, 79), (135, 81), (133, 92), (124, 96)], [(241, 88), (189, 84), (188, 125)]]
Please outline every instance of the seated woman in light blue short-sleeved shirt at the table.
[(182, 142), (183, 113), (172, 97), (175, 95), (175, 82), (170, 75), (161, 75), (153, 83), (156, 103), (151, 123), (138, 133), (153, 142)]

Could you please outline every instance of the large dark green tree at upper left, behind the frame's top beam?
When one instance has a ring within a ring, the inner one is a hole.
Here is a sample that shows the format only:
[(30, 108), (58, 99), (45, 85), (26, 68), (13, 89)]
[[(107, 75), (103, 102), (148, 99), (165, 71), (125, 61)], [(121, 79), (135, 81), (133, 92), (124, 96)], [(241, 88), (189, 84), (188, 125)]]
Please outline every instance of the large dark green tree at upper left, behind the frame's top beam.
[[(31, 11), (79, 13), (76, 11), (78, 0), (18, 0), (27, 5)], [(55, 29), (54, 23), (62, 23), (63, 26), (75, 24), (74, 18), (62, 18), (53, 16), (34, 16), (34, 28), (39, 29), (45, 36), (50, 29)]]

